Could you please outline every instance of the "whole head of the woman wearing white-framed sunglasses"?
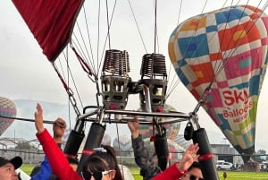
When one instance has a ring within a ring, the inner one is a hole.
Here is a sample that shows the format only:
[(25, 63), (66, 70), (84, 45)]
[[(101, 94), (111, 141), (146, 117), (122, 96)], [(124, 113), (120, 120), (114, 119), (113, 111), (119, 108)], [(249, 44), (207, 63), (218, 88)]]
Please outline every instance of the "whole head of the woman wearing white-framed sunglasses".
[(85, 180), (122, 180), (115, 151), (111, 146), (103, 146), (92, 153), (83, 165)]

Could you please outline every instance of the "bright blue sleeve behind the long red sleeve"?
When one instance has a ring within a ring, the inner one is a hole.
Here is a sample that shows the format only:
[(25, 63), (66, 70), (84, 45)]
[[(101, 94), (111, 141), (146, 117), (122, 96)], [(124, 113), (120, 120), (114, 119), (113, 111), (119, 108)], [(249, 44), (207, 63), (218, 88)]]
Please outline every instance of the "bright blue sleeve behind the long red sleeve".
[(40, 171), (37, 175), (32, 176), (30, 180), (48, 180), (51, 174), (51, 167), (49, 165), (48, 159), (45, 157), (45, 159), (41, 163)]

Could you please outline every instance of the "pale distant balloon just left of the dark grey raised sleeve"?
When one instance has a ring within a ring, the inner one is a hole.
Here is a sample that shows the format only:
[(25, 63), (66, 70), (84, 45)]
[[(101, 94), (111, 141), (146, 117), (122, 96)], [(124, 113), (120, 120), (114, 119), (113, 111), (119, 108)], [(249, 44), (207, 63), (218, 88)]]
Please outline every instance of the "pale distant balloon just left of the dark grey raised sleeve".
[(117, 138), (113, 140), (114, 150), (132, 150), (132, 143), (131, 143), (131, 139), (129, 136), (121, 135), (118, 138), (119, 138), (119, 143), (118, 143)]

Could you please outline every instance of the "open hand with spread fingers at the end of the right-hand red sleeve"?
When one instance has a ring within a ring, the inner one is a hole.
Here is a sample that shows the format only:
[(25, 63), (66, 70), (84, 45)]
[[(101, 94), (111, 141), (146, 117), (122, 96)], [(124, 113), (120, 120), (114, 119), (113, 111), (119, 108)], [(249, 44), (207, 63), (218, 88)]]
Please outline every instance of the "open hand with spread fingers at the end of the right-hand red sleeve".
[(180, 163), (177, 165), (177, 168), (180, 172), (185, 172), (188, 170), (194, 161), (197, 161), (199, 155), (197, 155), (197, 151), (199, 150), (198, 144), (190, 144), (188, 149), (182, 155), (180, 159)]

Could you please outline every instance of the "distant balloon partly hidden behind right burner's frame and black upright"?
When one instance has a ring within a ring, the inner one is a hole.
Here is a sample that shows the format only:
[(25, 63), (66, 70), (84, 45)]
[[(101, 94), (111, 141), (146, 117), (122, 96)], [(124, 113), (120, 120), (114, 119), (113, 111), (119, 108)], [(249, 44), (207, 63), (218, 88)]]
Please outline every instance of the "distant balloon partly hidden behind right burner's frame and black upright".
[[(138, 109), (140, 110), (140, 108)], [(172, 105), (165, 104), (163, 107), (163, 112), (168, 113), (170, 111), (177, 111)], [(163, 118), (163, 122), (167, 121), (171, 118), (165, 117)], [(172, 124), (164, 124), (166, 128), (167, 139), (173, 140), (180, 131), (180, 122), (172, 123)], [(140, 124), (139, 132), (142, 134), (143, 138), (149, 138), (153, 135), (153, 125), (152, 124)]]

